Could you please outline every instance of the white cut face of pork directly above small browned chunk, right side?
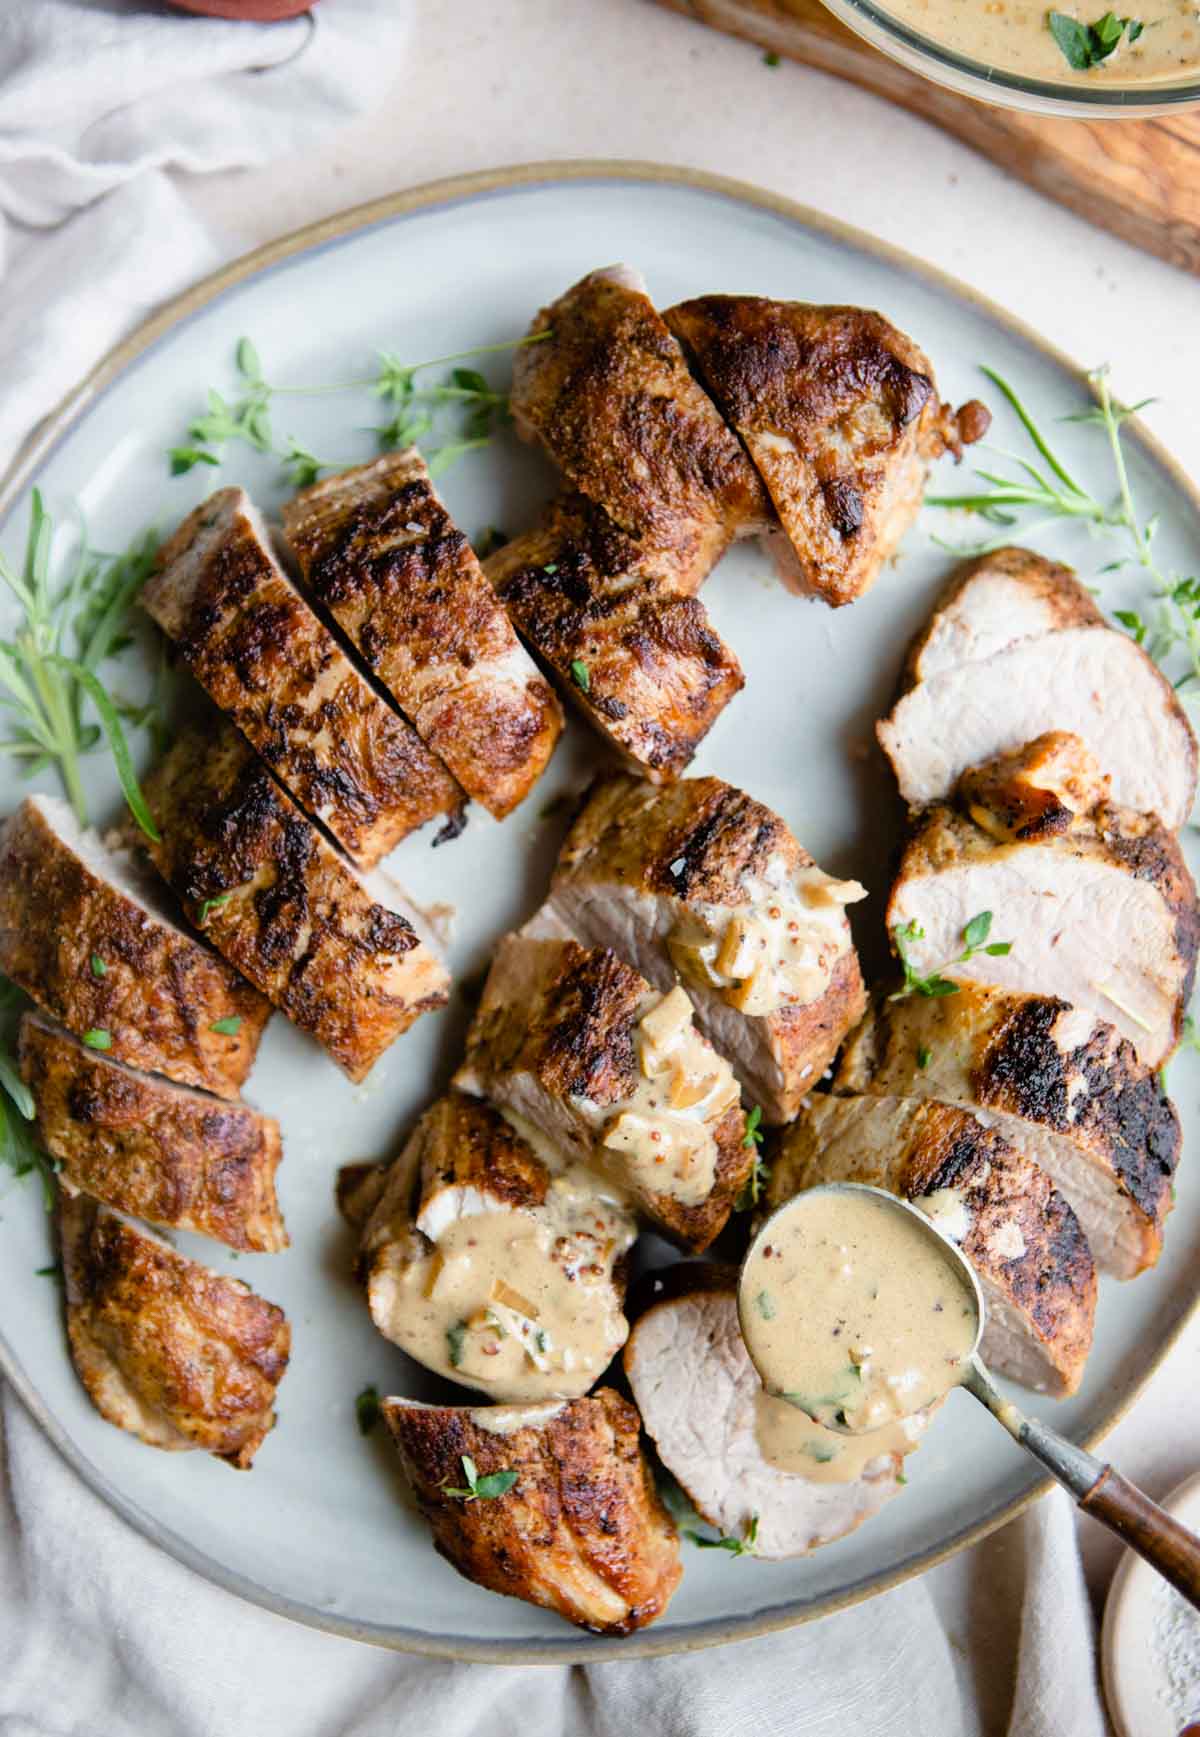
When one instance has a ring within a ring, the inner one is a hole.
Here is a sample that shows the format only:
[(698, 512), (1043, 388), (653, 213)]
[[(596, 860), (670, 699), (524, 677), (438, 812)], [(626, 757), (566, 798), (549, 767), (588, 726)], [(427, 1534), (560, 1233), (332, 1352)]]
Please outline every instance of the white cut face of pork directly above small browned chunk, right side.
[(1129, 634), (1063, 627), (910, 688), (875, 724), (910, 808), (945, 801), (967, 766), (1049, 730), (1084, 738), (1113, 801), (1181, 827), (1197, 743), (1174, 688)]

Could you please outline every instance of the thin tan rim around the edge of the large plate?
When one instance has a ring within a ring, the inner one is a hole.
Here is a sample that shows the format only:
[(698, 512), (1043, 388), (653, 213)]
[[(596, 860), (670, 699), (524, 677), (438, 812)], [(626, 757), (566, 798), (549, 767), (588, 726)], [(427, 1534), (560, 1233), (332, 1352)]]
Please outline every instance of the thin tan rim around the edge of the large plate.
[[(566, 163), (519, 163), (511, 168), (491, 168), (479, 174), (431, 181), (422, 188), (412, 188), (408, 193), (392, 193), (379, 200), (368, 200), (365, 205), (354, 205), (351, 210), (339, 212), (333, 217), (323, 217), (320, 222), (306, 224), (302, 229), (295, 229), (292, 234), (287, 234), (278, 241), (267, 241), (266, 247), (243, 254), (241, 259), (234, 259), (233, 264), (224, 266), (221, 271), (214, 271), (212, 276), (203, 278), (195, 285), (195, 288), (186, 290), (172, 302), (167, 302), (160, 313), (153, 314), (130, 337), (111, 349), (108, 356), (104, 356), (104, 360), (99, 361), (71, 393), (68, 393), (57, 410), (50, 412), (45, 422), (42, 422), (23, 445), (9, 467), (9, 472), (0, 483), (0, 521), (3, 521), (3, 518), (7, 518), (7, 514), (14, 509), (30, 478), (49, 459), (57, 443), (69, 433), (75, 422), (80, 420), (83, 412), (99, 398), (99, 394), (111, 386), (113, 380), (116, 380), (116, 377), (130, 367), (130, 363), (156, 344), (158, 339), (165, 337), (167, 332), (179, 325), (181, 320), (188, 320), (201, 307), (207, 307), (208, 302), (222, 295), (226, 290), (260, 271), (278, 266), (285, 259), (293, 259), (297, 254), (309, 252), (311, 248), (340, 241), (359, 229), (370, 229), (373, 224), (389, 222), (396, 217), (410, 217), (415, 212), (432, 210), (439, 205), (458, 205), (493, 193), (509, 193), (516, 188), (535, 188), (538, 184), (554, 184), (563, 181), (629, 181), (674, 188), (695, 188), (702, 193), (714, 193), (719, 198), (733, 200), (735, 203), (750, 205), (755, 210), (773, 212), (778, 217), (799, 224), (802, 229), (811, 229), (828, 236), (846, 248), (853, 248), (860, 254), (874, 254), (877, 259), (896, 266), (908, 276), (922, 278), (926, 283), (934, 285), (955, 301), (973, 304), (986, 314), (988, 320), (1004, 327), (1014, 337), (1021, 339), (1030, 349), (1038, 351), (1044, 358), (1052, 361), (1058, 368), (1063, 368), (1078, 379), (1085, 375), (1085, 370), (1080, 368), (1077, 361), (1066, 356), (1054, 344), (1049, 344), (1032, 327), (1016, 320), (1011, 313), (997, 306), (997, 302), (988, 301), (988, 297), (981, 295), (978, 290), (969, 288), (966, 283), (959, 283), (959, 280), (948, 273), (940, 271), (936, 266), (924, 264), (903, 248), (891, 247), (886, 241), (877, 241), (874, 236), (865, 234), (861, 229), (854, 229), (851, 224), (839, 222), (835, 217), (827, 217), (823, 212), (816, 212), (808, 205), (799, 205), (795, 200), (783, 198), (778, 193), (768, 193), (750, 182), (731, 181), (726, 175), (710, 175), (698, 168), (623, 162), (620, 158), (597, 158)], [(1177, 460), (1170, 457), (1170, 453), (1155, 439), (1153, 434), (1150, 434), (1148, 429), (1143, 427), (1136, 417), (1129, 419), (1125, 431), (1169, 476), (1170, 483), (1183, 495), (1186, 495), (1191, 502), (1193, 512), (1197, 514), (1197, 521), (1200, 523), (1200, 490), (1193, 485)], [(1160, 1344), (1157, 1355), (1148, 1364), (1141, 1365), (1137, 1374), (1115, 1393), (1111, 1409), (1104, 1414), (1091, 1436), (1087, 1436), (1087, 1447), (1096, 1447), (1108, 1435), (1108, 1431), (1120, 1423), (1197, 1310), (1200, 1310), (1200, 1292), (1177, 1304), (1176, 1318), (1170, 1324), (1165, 1341)], [(151, 1520), (149, 1515), (142, 1513), (142, 1509), (130, 1503), (120, 1490), (109, 1485), (108, 1478), (104, 1478), (90, 1464), (90, 1461), (68, 1438), (66, 1431), (59, 1426), (54, 1416), (45, 1409), (33, 1388), (33, 1383), (28, 1379), (2, 1336), (0, 1370), (3, 1370), (5, 1377), (21, 1395), (26, 1409), (33, 1414), (42, 1430), (49, 1435), (63, 1457), (83, 1478), (83, 1482), (96, 1490), (109, 1504), (109, 1508), (120, 1513), (122, 1518), (149, 1539), (151, 1544), (158, 1544), (160, 1549), (165, 1549), (168, 1555), (175, 1556), (177, 1562), (182, 1562), (196, 1574), (201, 1574), (207, 1581), (222, 1586), (226, 1591), (236, 1593), (250, 1603), (273, 1610), (276, 1615), (290, 1617), (295, 1622), (304, 1622), (309, 1628), (320, 1628), (332, 1635), (372, 1641), (377, 1647), (389, 1647), (394, 1652), (419, 1652), (443, 1659), (467, 1659), (485, 1664), (580, 1664), (599, 1659), (644, 1659), (670, 1652), (698, 1652), (702, 1647), (715, 1647), (722, 1641), (733, 1640), (750, 1640), (755, 1635), (775, 1635), (781, 1629), (795, 1628), (801, 1622), (813, 1622), (816, 1617), (832, 1615), (835, 1610), (846, 1610), (851, 1605), (863, 1603), (877, 1593), (891, 1591), (891, 1588), (901, 1586), (905, 1581), (912, 1581), (917, 1575), (926, 1574), (926, 1570), (936, 1567), (940, 1562), (946, 1562), (960, 1549), (978, 1544), (979, 1539), (995, 1532), (999, 1527), (1007, 1525), (1009, 1520), (1016, 1520), (1018, 1515), (1025, 1513), (1026, 1508), (1052, 1489), (1052, 1480), (1044, 1478), (1025, 1496), (997, 1508), (976, 1525), (966, 1527), (948, 1544), (920, 1551), (903, 1562), (898, 1569), (893, 1569), (889, 1574), (870, 1575), (841, 1593), (814, 1598), (811, 1603), (797, 1605), (792, 1602), (790, 1605), (754, 1612), (747, 1617), (710, 1619), (707, 1622), (696, 1622), (689, 1629), (676, 1635), (656, 1635), (653, 1629), (648, 1629), (644, 1635), (616, 1641), (599, 1638), (582, 1640), (571, 1636), (570, 1633), (566, 1633), (561, 1641), (533, 1640), (528, 1643), (511, 1640), (485, 1641), (471, 1636), (432, 1636), (413, 1629), (394, 1629), (346, 1621), (314, 1605), (297, 1603), (278, 1593), (271, 1593), (266, 1588), (247, 1581), (231, 1569), (226, 1569), (224, 1563), (205, 1556), (203, 1551), (195, 1549), (186, 1539), (175, 1537), (174, 1532), (162, 1527), (156, 1520)]]

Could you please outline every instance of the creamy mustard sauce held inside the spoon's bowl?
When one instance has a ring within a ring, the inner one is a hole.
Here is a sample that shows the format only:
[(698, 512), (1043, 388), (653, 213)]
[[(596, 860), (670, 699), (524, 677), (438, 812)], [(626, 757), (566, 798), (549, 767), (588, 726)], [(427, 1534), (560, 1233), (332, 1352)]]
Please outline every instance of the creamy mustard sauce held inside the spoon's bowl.
[(978, 1325), (950, 1254), (867, 1192), (813, 1190), (776, 1212), (747, 1254), (738, 1313), (766, 1391), (851, 1435), (943, 1398)]

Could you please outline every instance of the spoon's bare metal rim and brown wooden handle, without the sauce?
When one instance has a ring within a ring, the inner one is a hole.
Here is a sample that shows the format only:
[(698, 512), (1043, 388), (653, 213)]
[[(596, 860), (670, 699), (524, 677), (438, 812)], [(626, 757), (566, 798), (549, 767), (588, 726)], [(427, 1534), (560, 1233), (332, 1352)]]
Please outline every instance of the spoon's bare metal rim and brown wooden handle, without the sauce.
[[(952, 1270), (962, 1282), (964, 1294), (974, 1303), (976, 1329), (969, 1355), (962, 1364), (962, 1376), (957, 1386), (962, 1386), (971, 1393), (981, 1405), (992, 1412), (992, 1416), (1004, 1424), (1014, 1442), (1018, 1442), (1028, 1454), (1038, 1459), (1045, 1470), (1058, 1478), (1065, 1489), (1071, 1492), (1084, 1513), (1099, 1520), (1106, 1525), (1110, 1532), (1117, 1532), (1118, 1537), (1129, 1544), (1131, 1549), (1137, 1551), (1139, 1556), (1157, 1569), (1165, 1581), (1169, 1581), (1176, 1591), (1179, 1591), (1190, 1605), (1200, 1610), (1200, 1537), (1190, 1532), (1184, 1525), (1179, 1525), (1169, 1513), (1151, 1503), (1150, 1497), (1131, 1483), (1129, 1478), (1122, 1478), (1113, 1466), (1104, 1459), (1096, 1459), (1085, 1449), (1077, 1447), (1068, 1442), (1066, 1436), (1059, 1435), (1058, 1430), (1051, 1430), (1049, 1424), (1040, 1423), (1037, 1417), (1026, 1417), (1011, 1400), (1005, 1400), (995, 1381), (992, 1379), (983, 1358), (979, 1357), (979, 1339), (983, 1337), (983, 1329), (986, 1324), (986, 1301), (979, 1287), (978, 1275), (967, 1261), (962, 1249), (943, 1235), (936, 1225), (933, 1225), (924, 1212), (908, 1200), (901, 1200), (898, 1195), (891, 1195), (882, 1188), (870, 1188), (867, 1183), (823, 1183), (818, 1188), (809, 1188), (792, 1200), (787, 1200), (781, 1207), (766, 1219), (754, 1237), (750, 1249), (747, 1251), (747, 1261), (754, 1251), (764, 1240), (773, 1235), (778, 1240), (780, 1219), (783, 1214), (792, 1214), (802, 1211), (806, 1200), (813, 1200), (827, 1193), (865, 1193), (874, 1195), (886, 1202), (896, 1212), (907, 1212), (913, 1219), (922, 1235), (929, 1237), (936, 1245), (943, 1259), (948, 1261)], [(742, 1278), (745, 1278), (745, 1261), (742, 1266)], [(747, 1339), (747, 1350), (752, 1344), (752, 1334), (745, 1332), (745, 1320), (748, 1318), (750, 1299), (745, 1294), (745, 1285), (738, 1284), (738, 1315), (743, 1320), (743, 1337)], [(750, 1357), (754, 1351), (750, 1350)], [(755, 1365), (757, 1367), (757, 1365)], [(762, 1370), (759, 1369), (759, 1376)], [(764, 1377), (764, 1386), (769, 1383)], [(839, 1428), (830, 1424), (827, 1417), (816, 1419), (827, 1428)], [(839, 1433), (849, 1435), (853, 1431), (841, 1428)]]

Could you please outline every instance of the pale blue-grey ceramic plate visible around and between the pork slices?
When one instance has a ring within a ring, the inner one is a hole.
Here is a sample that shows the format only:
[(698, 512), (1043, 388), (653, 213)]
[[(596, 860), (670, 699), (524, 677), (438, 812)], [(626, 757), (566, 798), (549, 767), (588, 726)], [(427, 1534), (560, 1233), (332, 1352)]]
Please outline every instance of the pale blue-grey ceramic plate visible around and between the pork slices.
[[(196, 413), (203, 389), (231, 384), (231, 353), (243, 334), (274, 380), (354, 377), (380, 347), (420, 360), (514, 337), (535, 307), (615, 259), (641, 266), (662, 306), (742, 290), (880, 307), (927, 347), (943, 394), (955, 401), (985, 384), (983, 361), (1047, 420), (1080, 400), (1070, 365), (999, 309), (785, 201), (676, 170), (504, 172), (335, 219), (184, 297), (111, 358), (26, 455), (0, 502), (16, 504), (0, 532), (3, 547), (19, 549), (31, 479), (57, 512), (78, 500), (101, 547), (122, 545), (148, 519), (172, 523), (215, 486), (208, 469), (168, 479), (163, 452)], [(500, 358), (493, 373), (504, 372)], [(318, 452), (351, 460), (370, 450), (356, 433), (368, 420), (380, 419), (363, 396), (297, 400), (290, 427)], [(1061, 434), (1077, 467), (1106, 492), (1098, 434), (1078, 426)], [(999, 436), (1014, 439), (1005, 417)], [(1144, 509), (1162, 512), (1167, 558), (1197, 571), (1197, 499), (1137, 433), (1129, 448)], [(231, 453), (226, 476), (266, 505), (280, 500), (273, 467), (243, 448)], [(450, 509), (469, 533), (523, 526), (552, 486), (551, 467), (507, 438), (445, 479)], [(1082, 533), (1045, 537), (1042, 545), (1084, 566), (1110, 558), (1092, 556)], [(748, 681), (695, 769), (773, 804), (827, 868), (867, 882), (872, 902), (853, 915), (868, 968), (882, 957), (898, 834), (889, 776), (868, 752), (870, 726), (948, 565), (919, 526), (900, 563), (851, 610), (832, 613), (787, 596), (754, 549), (726, 559), (705, 589)], [(1113, 580), (1106, 587), (1110, 604), (1137, 594), (1136, 582), (1124, 592)], [(538, 902), (561, 834), (561, 820), (540, 811), (556, 792), (577, 790), (594, 763), (592, 740), (573, 724), (547, 778), (504, 825), (472, 809), (457, 842), (431, 849), (431, 829), (396, 851), (389, 867), (420, 903), (457, 907), (455, 974), (478, 971), (495, 938)], [(102, 759), (90, 764), (96, 813), (108, 818), (113, 782)], [(9, 809), (21, 787), (3, 778), (0, 809)], [(396, 1150), (415, 1112), (445, 1084), (462, 1030), (455, 999), (401, 1039), (366, 1086), (353, 1087), (285, 1020), (269, 1027), (248, 1096), (283, 1124), (280, 1190), (292, 1249), (231, 1265), (214, 1244), (179, 1238), (281, 1303), (295, 1329), (280, 1424), (248, 1476), (200, 1454), (151, 1452), (90, 1410), (66, 1357), (57, 1291), (35, 1278), (49, 1247), (36, 1190), (0, 1185), (3, 1370), (66, 1457), (148, 1537), (247, 1598), (346, 1635), (474, 1659), (585, 1659), (696, 1647), (820, 1615), (920, 1572), (1030, 1499), (1032, 1464), (966, 1395), (952, 1397), (910, 1463), (908, 1489), (879, 1518), (790, 1563), (755, 1565), (684, 1546), (682, 1586), (646, 1635), (603, 1641), (462, 1581), (406, 1506), (382, 1433), (361, 1440), (354, 1426), (354, 1395), (365, 1384), (399, 1393), (424, 1393), (427, 1384), (372, 1327), (347, 1277), (349, 1238), (332, 1197), (340, 1164)], [(1174, 1065), (1172, 1082), (1195, 1122), (1191, 1058)], [(1164, 1259), (1132, 1285), (1103, 1287), (1084, 1388), (1045, 1407), (1061, 1430), (1096, 1438), (1131, 1402), (1191, 1306), (1198, 1242), (1200, 1174), (1184, 1166)]]

